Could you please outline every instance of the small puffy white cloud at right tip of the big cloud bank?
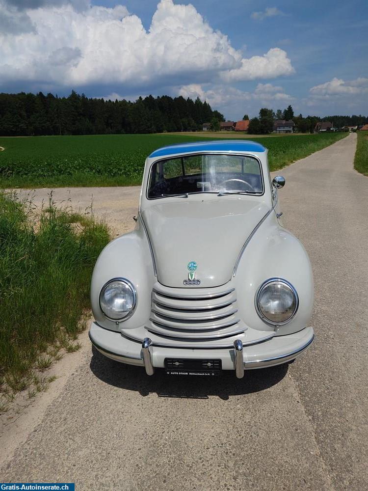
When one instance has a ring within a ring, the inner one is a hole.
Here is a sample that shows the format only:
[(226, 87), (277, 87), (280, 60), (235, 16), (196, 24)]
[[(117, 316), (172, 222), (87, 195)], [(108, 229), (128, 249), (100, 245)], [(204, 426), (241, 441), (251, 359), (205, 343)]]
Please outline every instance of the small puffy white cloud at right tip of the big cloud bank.
[(241, 66), (222, 72), (226, 82), (239, 82), (255, 79), (271, 79), (295, 73), (286, 51), (272, 48), (263, 56), (243, 58)]

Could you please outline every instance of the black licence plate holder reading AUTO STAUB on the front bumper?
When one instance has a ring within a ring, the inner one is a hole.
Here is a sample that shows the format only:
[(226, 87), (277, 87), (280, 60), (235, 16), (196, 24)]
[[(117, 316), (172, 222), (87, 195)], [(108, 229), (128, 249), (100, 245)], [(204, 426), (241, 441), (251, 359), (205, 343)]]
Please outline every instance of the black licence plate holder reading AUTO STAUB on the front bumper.
[(213, 377), (220, 375), (220, 359), (165, 358), (166, 375), (194, 375)]

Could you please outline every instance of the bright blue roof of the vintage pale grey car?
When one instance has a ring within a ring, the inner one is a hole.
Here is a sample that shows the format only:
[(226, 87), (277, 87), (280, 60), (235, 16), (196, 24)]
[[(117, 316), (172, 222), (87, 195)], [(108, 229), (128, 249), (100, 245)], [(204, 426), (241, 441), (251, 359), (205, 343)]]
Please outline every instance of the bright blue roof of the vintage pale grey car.
[(215, 140), (195, 141), (193, 143), (179, 143), (158, 148), (150, 155), (164, 157), (165, 155), (191, 153), (191, 152), (264, 152), (266, 149), (260, 143), (251, 140)]

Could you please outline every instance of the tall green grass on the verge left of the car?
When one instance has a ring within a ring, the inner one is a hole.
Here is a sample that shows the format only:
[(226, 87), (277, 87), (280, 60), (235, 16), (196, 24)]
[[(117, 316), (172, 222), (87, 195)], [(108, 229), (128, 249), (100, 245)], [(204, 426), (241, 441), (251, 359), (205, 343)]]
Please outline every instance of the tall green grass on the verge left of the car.
[(73, 351), (89, 306), (92, 269), (108, 241), (105, 224), (93, 218), (58, 211), (52, 203), (38, 211), (0, 193), (3, 389), (25, 388), (33, 368), (47, 368), (61, 346)]

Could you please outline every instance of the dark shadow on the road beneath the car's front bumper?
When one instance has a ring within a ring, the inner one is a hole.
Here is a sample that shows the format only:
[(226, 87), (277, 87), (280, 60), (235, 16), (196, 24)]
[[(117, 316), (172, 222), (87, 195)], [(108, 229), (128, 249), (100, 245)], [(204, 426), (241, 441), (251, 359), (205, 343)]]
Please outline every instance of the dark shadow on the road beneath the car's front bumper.
[(233, 371), (224, 371), (218, 377), (189, 377), (170, 376), (166, 375), (163, 369), (156, 369), (155, 374), (149, 377), (144, 368), (106, 358), (95, 347), (92, 347), (90, 368), (103, 382), (137, 391), (142, 396), (156, 392), (159, 397), (208, 399), (214, 395), (225, 401), (233, 395), (267, 389), (280, 382), (288, 372), (288, 364), (283, 364), (247, 370), (241, 380), (236, 378)]

